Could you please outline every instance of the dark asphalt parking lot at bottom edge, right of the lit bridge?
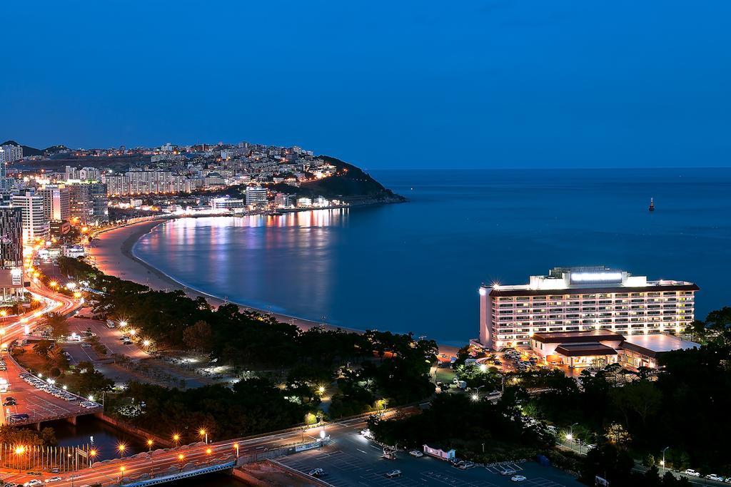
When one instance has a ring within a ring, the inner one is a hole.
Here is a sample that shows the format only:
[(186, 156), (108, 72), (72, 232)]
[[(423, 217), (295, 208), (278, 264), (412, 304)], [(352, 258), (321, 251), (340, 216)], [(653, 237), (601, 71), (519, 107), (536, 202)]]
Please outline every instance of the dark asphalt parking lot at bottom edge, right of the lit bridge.
[[(459, 453), (459, 452), (458, 452)], [(336, 487), (344, 486), (535, 486), (535, 487), (573, 487), (581, 484), (572, 476), (553, 467), (542, 467), (529, 461), (522, 464), (507, 464), (504, 468), (513, 469), (527, 480), (514, 483), (510, 475), (500, 475), (500, 467), (473, 467), (461, 470), (452, 467), (447, 461), (428, 456), (414, 458), (408, 453), (399, 452), (397, 459), (381, 458), (379, 445), (366, 440), (357, 432), (338, 434), (336, 441), (325, 448), (310, 450), (286, 456), (278, 461), (307, 475), (312, 469), (321, 468), (326, 475), (322, 480)], [(387, 478), (387, 472), (401, 470), (401, 475)]]

